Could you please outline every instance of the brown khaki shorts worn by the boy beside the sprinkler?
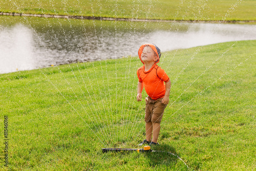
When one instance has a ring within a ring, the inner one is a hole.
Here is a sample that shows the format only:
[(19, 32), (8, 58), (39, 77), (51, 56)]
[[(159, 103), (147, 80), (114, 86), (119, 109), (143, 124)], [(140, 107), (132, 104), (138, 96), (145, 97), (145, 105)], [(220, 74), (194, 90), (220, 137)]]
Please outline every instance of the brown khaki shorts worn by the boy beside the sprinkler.
[(153, 100), (149, 96), (146, 97), (145, 122), (161, 123), (164, 109), (167, 104), (163, 104), (163, 98)]

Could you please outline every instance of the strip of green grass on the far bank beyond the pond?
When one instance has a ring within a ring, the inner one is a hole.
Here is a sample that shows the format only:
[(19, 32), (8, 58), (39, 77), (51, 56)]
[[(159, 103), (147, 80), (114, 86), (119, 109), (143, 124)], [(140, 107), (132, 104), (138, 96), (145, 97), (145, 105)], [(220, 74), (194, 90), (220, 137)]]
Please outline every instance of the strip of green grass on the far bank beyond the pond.
[(253, 0), (1, 1), (0, 11), (171, 20), (256, 20)]

